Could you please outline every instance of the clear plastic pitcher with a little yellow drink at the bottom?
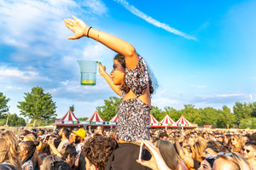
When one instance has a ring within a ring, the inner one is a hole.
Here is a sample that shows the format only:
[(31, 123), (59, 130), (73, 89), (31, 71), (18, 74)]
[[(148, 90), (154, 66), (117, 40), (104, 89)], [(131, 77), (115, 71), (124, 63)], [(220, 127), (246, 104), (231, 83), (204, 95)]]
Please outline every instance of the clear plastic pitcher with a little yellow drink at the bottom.
[(97, 61), (78, 60), (81, 72), (81, 85), (95, 86), (96, 85), (96, 70)]

